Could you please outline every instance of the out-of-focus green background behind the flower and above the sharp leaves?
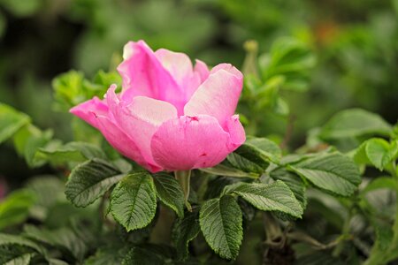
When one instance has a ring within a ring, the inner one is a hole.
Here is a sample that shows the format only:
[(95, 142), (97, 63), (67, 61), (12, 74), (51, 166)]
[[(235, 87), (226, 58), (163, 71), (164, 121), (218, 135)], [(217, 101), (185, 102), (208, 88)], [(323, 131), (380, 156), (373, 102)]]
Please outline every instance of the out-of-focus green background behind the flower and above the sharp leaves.
[[(310, 85), (306, 93), (281, 92), (288, 117), (256, 113), (256, 133), (283, 134), (294, 119), (291, 146), (298, 148), (310, 128), (352, 107), (396, 122), (397, 0), (0, 0), (0, 101), (71, 140), (71, 115), (55, 111), (52, 101), (51, 80), (62, 72), (91, 78), (113, 70), (123, 45), (139, 39), (242, 69), (244, 42), (256, 40), (262, 54), (287, 36), (316, 56)], [(28, 170), (11, 145), (0, 148), (0, 168), (11, 186), (50, 171)]]

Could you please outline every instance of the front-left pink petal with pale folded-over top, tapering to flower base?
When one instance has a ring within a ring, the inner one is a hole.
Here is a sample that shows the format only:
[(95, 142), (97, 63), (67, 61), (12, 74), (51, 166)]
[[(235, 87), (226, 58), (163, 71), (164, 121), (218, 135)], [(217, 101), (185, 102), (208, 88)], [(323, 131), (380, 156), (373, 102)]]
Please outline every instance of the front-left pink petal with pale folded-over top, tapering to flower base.
[(157, 164), (152, 157), (150, 140), (160, 125), (177, 117), (175, 107), (146, 96), (136, 96), (131, 102), (124, 102), (115, 94), (114, 88), (108, 90), (106, 100), (119, 128), (134, 140), (148, 163)]

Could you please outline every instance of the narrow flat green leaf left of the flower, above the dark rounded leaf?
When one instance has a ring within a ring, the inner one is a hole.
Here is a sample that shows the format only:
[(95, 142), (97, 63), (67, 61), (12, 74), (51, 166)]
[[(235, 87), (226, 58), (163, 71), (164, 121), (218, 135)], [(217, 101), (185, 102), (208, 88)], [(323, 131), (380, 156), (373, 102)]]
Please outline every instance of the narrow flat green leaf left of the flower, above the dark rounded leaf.
[(69, 142), (64, 146), (40, 148), (36, 153), (36, 157), (54, 164), (62, 164), (71, 161), (84, 162), (91, 158), (106, 159), (106, 155), (100, 148), (90, 143), (78, 141)]

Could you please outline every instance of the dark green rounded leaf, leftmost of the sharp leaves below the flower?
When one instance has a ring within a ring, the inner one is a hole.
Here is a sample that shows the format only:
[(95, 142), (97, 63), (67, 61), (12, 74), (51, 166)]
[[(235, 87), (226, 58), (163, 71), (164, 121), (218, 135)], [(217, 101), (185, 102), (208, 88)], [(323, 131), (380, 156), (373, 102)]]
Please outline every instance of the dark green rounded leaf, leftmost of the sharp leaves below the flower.
[(86, 207), (124, 176), (110, 163), (94, 158), (72, 170), (65, 187), (66, 198), (77, 207)]

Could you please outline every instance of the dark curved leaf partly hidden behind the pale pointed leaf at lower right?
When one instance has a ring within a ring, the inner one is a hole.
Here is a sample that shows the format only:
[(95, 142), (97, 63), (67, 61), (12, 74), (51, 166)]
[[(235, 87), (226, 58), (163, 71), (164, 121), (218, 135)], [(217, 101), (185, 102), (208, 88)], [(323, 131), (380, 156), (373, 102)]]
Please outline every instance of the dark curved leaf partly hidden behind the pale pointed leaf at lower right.
[(287, 171), (284, 168), (272, 170), (270, 173), (271, 178), (275, 180), (281, 180), (285, 183), (289, 189), (295, 194), (295, 199), (300, 202), (302, 208), (307, 206), (307, 197), (305, 196), (306, 186), (302, 181), (302, 178), (297, 176), (295, 173)]

